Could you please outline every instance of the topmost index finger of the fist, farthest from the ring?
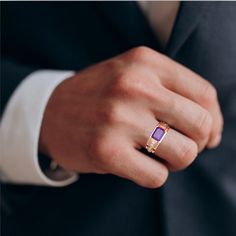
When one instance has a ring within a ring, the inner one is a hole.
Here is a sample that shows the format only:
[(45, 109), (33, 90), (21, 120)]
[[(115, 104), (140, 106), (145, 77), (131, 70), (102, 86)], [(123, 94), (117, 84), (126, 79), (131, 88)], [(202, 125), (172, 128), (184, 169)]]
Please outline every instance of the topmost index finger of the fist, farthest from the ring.
[(161, 77), (162, 84), (169, 90), (198, 103), (209, 111), (213, 122), (208, 147), (217, 146), (223, 128), (223, 117), (215, 88), (188, 68), (168, 58), (164, 60), (167, 60), (171, 66), (168, 66), (168, 72), (165, 76)]

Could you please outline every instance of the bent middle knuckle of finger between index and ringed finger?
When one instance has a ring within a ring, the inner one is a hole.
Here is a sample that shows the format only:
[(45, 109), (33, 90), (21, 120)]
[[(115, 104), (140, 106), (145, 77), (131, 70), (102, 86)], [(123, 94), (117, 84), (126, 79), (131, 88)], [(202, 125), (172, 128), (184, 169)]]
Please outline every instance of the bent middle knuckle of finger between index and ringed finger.
[(200, 118), (196, 122), (196, 136), (199, 139), (206, 139), (210, 135), (212, 128), (212, 117), (208, 111), (202, 112)]

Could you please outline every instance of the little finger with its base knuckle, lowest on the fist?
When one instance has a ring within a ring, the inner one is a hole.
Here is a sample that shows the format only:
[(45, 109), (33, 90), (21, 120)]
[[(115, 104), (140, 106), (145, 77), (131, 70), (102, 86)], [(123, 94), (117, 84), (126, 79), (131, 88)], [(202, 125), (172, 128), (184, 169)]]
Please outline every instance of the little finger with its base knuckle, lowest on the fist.
[(97, 173), (114, 174), (147, 188), (162, 186), (168, 177), (167, 167), (136, 150), (126, 132), (120, 128), (110, 133), (104, 130), (101, 137), (93, 139), (90, 163)]

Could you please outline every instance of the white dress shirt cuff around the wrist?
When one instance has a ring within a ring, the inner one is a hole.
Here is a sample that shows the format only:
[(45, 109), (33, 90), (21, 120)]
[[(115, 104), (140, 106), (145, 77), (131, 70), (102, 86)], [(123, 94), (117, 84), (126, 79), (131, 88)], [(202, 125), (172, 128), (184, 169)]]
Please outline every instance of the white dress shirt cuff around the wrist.
[(57, 173), (42, 171), (38, 156), (38, 140), (47, 102), (56, 86), (72, 75), (73, 72), (68, 71), (36, 71), (27, 76), (11, 95), (0, 124), (2, 182), (59, 187), (78, 179), (76, 173), (58, 168)]

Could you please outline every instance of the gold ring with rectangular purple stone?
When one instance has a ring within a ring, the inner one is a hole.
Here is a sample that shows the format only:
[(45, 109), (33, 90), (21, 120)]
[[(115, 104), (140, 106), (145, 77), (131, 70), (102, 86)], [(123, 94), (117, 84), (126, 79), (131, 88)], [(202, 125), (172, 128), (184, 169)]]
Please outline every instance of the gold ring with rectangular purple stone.
[(154, 153), (156, 151), (157, 147), (167, 134), (169, 128), (169, 125), (163, 121), (157, 124), (146, 144), (146, 149), (148, 152)]

